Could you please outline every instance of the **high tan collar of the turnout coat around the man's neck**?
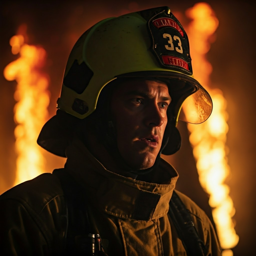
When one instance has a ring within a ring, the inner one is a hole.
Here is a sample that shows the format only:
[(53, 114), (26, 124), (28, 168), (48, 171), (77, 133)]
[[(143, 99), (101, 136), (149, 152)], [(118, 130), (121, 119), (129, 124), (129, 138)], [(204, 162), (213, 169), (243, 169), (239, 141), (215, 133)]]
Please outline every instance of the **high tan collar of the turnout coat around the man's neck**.
[(165, 160), (160, 160), (155, 179), (158, 181), (153, 183), (106, 169), (79, 140), (67, 147), (66, 156), (65, 168), (84, 187), (89, 201), (99, 210), (116, 217), (145, 221), (168, 212), (178, 174)]

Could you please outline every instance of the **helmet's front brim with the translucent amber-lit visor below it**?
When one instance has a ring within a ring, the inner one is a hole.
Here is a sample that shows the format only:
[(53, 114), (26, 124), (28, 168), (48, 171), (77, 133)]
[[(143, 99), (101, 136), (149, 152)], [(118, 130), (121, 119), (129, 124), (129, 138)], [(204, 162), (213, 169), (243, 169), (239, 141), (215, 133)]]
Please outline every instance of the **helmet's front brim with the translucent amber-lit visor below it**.
[[(143, 77), (167, 79), (169, 94), (172, 98), (172, 114), (177, 120), (188, 123), (202, 123), (212, 112), (212, 99), (201, 84), (190, 75), (180, 72), (150, 70), (118, 75), (117, 78)], [(181, 108), (183, 109), (180, 115)]]

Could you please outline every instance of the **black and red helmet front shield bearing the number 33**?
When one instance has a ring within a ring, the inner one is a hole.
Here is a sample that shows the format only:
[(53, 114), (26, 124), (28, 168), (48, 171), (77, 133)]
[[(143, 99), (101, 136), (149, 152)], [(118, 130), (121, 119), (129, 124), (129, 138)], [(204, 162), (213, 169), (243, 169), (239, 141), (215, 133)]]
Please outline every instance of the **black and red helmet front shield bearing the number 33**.
[(160, 66), (191, 75), (188, 38), (170, 9), (159, 9), (147, 25), (152, 40), (151, 50)]

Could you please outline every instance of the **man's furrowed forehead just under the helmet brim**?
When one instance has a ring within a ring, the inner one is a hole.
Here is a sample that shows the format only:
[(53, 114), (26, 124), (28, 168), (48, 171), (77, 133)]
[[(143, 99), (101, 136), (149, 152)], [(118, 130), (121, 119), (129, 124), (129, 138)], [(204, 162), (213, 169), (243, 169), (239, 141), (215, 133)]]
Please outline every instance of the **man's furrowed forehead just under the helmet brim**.
[(145, 93), (147, 95), (169, 96), (168, 86), (160, 80), (131, 79), (117, 83), (113, 95)]

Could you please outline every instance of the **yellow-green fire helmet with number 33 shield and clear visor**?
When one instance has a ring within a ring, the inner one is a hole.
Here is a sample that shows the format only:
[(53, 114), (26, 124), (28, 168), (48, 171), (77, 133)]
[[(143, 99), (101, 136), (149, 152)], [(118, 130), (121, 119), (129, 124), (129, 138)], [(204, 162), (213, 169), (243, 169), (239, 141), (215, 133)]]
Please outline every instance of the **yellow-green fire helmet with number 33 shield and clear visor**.
[[(104, 86), (129, 77), (169, 81), (175, 125), (184, 104), (186, 122), (201, 123), (211, 113), (208, 92), (192, 76), (187, 35), (167, 6), (106, 18), (85, 31), (70, 52), (57, 108), (84, 119)], [(50, 151), (40, 135), (37, 142)]]

